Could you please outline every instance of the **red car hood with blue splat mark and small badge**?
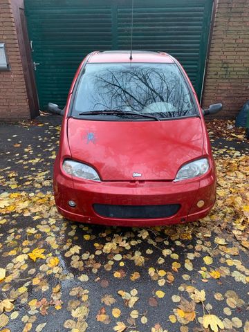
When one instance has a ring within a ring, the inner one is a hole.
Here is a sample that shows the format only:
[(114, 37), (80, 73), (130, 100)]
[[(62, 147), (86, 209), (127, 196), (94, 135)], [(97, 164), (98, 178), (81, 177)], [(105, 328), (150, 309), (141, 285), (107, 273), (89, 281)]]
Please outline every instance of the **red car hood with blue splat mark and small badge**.
[[(92, 165), (103, 181), (173, 180), (203, 152), (200, 118), (107, 122), (68, 119), (72, 158)], [(133, 172), (142, 176), (133, 178)]]

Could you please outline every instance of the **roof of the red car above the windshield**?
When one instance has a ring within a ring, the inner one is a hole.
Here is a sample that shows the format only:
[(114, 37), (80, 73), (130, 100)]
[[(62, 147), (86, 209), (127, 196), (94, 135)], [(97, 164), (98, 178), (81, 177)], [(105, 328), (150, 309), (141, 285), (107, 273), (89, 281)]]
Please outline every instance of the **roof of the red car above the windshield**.
[(152, 52), (149, 50), (133, 50), (132, 60), (130, 50), (105, 50), (92, 53), (88, 62), (90, 63), (113, 63), (113, 62), (149, 62), (149, 63), (174, 63), (174, 58), (165, 52)]

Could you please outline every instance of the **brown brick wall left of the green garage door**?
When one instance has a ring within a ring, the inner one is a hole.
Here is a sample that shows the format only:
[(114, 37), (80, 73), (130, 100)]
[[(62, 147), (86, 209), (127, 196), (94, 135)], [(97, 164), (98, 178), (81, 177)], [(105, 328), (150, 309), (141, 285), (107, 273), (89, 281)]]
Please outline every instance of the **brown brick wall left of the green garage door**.
[(10, 71), (0, 71), (0, 121), (30, 119), (15, 19), (10, 0), (0, 0), (0, 42), (6, 43)]

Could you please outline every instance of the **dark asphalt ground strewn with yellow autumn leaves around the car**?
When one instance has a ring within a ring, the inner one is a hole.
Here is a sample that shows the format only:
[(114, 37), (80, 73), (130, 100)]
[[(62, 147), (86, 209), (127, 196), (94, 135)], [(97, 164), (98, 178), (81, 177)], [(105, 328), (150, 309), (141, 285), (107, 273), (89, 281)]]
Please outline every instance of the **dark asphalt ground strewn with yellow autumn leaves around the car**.
[(110, 228), (57, 213), (61, 121), (0, 125), (0, 331), (212, 331), (210, 315), (213, 331), (248, 332), (248, 141), (211, 136), (220, 182), (207, 218)]

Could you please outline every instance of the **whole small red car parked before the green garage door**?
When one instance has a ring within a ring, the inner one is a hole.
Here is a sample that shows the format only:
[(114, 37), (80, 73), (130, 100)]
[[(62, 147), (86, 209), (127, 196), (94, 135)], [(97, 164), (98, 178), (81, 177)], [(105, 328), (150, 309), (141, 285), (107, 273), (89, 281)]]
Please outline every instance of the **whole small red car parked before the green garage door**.
[(54, 166), (55, 203), (82, 223), (154, 226), (210, 212), (216, 175), (196, 92), (163, 52), (93, 52), (68, 93)]

